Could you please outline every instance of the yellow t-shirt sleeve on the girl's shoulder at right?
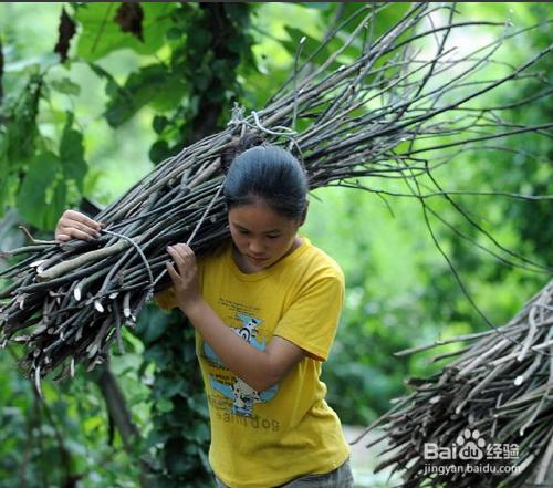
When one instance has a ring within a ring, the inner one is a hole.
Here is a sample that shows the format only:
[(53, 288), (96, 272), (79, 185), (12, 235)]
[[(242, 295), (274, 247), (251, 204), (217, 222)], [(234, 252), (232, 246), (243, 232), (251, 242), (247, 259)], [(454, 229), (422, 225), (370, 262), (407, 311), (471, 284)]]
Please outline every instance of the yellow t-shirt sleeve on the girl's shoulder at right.
[(336, 335), (344, 303), (344, 280), (332, 276), (307, 284), (276, 324), (274, 335), (326, 361)]

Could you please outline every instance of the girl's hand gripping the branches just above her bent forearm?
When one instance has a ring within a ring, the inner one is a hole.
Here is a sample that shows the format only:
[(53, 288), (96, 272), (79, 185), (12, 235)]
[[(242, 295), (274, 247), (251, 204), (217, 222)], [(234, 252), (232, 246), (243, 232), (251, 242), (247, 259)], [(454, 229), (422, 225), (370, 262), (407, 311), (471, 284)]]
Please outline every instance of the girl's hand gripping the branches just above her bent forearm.
[(177, 303), (186, 313), (186, 310), (190, 305), (201, 301), (196, 256), (186, 243), (169, 246), (167, 247), (167, 252), (169, 252), (175, 261), (175, 263), (166, 263), (167, 272), (175, 287)]

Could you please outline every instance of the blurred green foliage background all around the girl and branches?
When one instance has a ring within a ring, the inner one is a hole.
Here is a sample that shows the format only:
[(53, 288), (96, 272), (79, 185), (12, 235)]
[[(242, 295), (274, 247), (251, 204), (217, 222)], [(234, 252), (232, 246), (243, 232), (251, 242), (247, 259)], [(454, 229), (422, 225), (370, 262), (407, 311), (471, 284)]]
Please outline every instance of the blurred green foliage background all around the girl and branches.
[[(359, 8), (230, 4), (221, 9), (228, 22), (220, 31), (205, 7), (143, 3), (140, 41), (113, 20), (118, 6), (0, 4), (1, 249), (22, 241), (13, 230), (18, 224), (49, 237), (64, 208), (83, 205), (83, 198), (85, 209), (113, 201), (156, 163), (209, 134), (204, 118), (211, 127), (223, 126), (234, 100), (248, 110), (261, 107), (290, 73), (298, 40), (306, 35), (309, 51), (324, 38), (337, 10)], [(62, 8), (77, 25), (65, 63), (53, 52)], [(385, 10), (377, 30), (384, 31), (406, 8)], [(551, 7), (465, 3), (459, 10), (463, 18), (512, 18), (522, 27), (545, 20)], [(479, 32), (492, 35), (487, 28)], [(501, 55), (517, 64), (552, 37), (544, 25)], [(549, 82), (551, 66), (551, 56), (540, 66)], [(515, 92), (494, 92), (487, 102), (517, 102), (536, 90), (529, 81)], [(508, 118), (550, 122), (551, 104), (513, 110)], [(551, 139), (525, 135), (505, 144), (517, 153), (468, 152), (437, 176), (448, 189), (552, 194)], [(406, 191), (399, 183), (367, 185)], [(462, 196), (457, 201), (505, 247), (542, 264), (553, 263), (551, 200)], [(432, 208), (484, 243), (447, 203), (437, 198)], [(546, 282), (546, 276), (505, 267), (437, 220), (432, 224), (492, 322), (508, 321)], [(367, 425), (405, 393), (404, 378), (444, 364), (430, 364), (431, 353), (398, 359), (395, 351), (487, 328), (434, 246), (415, 199), (385, 201), (361, 190), (323, 188), (312, 195), (302, 232), (346, 274), (346, 305), (324, 367), (328, 402), (344, 424)], [(95, 373), (77, 368), (72, 382), (45, 382), (44, 404), (17, 370), (22, 351), (1, 351), (0, 488), (135, 487), (140, 469), (136, 460), (146, 454), (165, 474), (156, 486), (210, 486), (208, 476), (197, 474), (208, 473), (209, 429), (189, 339), (190, 330), (178, 315), (149, 308), (137, 330), (126, 331), (126, 353), (114, 351), (109, 367), (144, 438), (135, 451), (124, 449), (118, 434), (112, 433)], [(175, 436), (176, 430), (182, 436)], [(196, 485), (182, 481), (192, 473)]]

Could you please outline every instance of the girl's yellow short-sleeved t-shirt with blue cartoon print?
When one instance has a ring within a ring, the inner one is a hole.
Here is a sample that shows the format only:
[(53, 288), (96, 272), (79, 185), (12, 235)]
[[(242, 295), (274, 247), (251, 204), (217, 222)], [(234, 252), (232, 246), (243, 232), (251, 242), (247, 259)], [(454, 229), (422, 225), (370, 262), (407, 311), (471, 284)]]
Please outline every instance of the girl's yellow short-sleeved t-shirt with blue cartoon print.
[[(196, 334), (211, 420), (211, 467), (231, 488), (274, 487), (331, 471), (349, 455), (320, 380), (342, 310), (344, 274), (306, 237), (289, 256), (251, 274), (240, 271), (231, 250), (229, 241), (198, 260), (206, 302), (254, 347), (264, 350), (279, 335), (306, 356), (279, 384), (255, 392)], [(176, 305), (171, 293), (156, 298), (163, 308)]]

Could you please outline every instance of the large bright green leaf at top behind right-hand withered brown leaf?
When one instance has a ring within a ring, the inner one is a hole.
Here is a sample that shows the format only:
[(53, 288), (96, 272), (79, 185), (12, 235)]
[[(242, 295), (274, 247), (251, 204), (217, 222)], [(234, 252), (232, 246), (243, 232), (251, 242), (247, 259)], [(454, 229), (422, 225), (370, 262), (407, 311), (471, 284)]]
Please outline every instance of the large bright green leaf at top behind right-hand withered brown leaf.
[(165, 32), (171, 27), (169, 12), (175, 9), (174, 3), (140, 3), (144, 11), (144, 42), (121, 30), (121, 25), (114, 20), (116, 6), (114, 2), (101, 2), (86, 3), (79, 8), (75, 18), (83, 27), (77, 45), (80, 58), (95, 61), (124, 48), (139, 54), (154, 54), (164, 45)]

